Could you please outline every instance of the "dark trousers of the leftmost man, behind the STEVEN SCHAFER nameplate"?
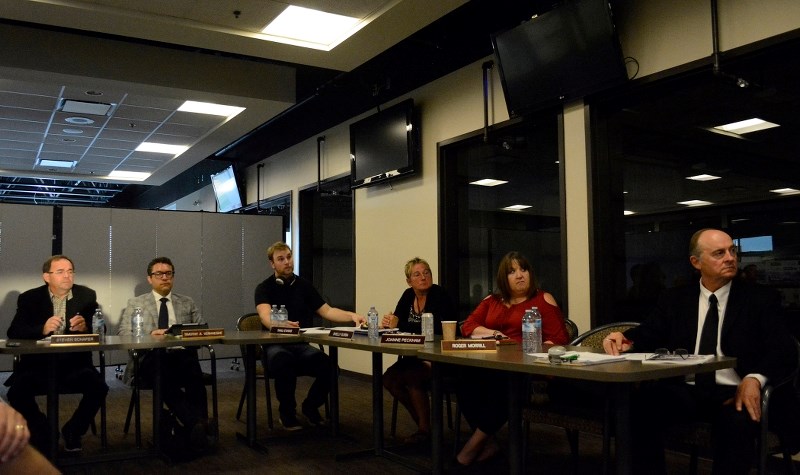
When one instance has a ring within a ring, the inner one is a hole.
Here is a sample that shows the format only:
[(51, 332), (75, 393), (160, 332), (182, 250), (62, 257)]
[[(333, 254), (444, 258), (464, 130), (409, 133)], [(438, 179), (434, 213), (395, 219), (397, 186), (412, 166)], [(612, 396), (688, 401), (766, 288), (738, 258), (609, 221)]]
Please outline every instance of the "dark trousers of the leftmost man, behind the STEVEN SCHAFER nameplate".
[[(39, 409), (36, 396), (47, 394), (47, 370), (15, 371), (8, 402), (28, 422), (31, 443), (40, 450), (49, 448), (50, 429), (47, 416)], [(82, 436), (89, 430), (100, 405), (108, 393), (105, 378), (93, 366), (69, 367), (59, 365), (56, 371), (59, 393), (81, 393), (83, 397), (72, 417), (62, 427), (62, 432)]]

